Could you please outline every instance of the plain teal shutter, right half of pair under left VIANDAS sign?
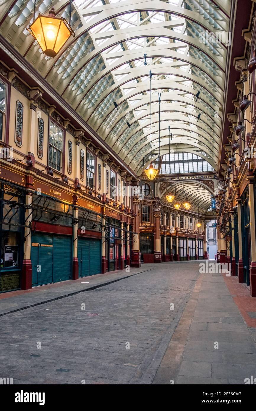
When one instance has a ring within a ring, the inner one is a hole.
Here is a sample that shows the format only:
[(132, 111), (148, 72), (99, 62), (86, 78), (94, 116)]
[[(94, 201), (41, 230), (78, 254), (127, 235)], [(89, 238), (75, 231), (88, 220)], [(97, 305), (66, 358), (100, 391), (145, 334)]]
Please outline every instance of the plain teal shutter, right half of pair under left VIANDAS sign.
[(53, 236), (53, 282), (71, 279), (72, 238)]

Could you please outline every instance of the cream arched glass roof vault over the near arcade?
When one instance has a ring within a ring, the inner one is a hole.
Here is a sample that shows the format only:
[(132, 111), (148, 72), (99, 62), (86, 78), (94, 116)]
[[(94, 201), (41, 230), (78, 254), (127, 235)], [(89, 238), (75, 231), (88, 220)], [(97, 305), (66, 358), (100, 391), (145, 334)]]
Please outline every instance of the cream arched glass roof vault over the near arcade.
[[(138, 175), (151, 150), (150, 70), (152, 152), (159, 150), (161, 92), (161, 155), (169, 152), (170, 125), (171, 148), (207, 158), (217, 169), (231, 0), (74, 0), (76, 37), (55, 58), (25, 30), (32, 0), (0, 5), (0, 14), (9, 10), (1, 34)], [(35, 16), (53, 6), (68, 19), (64, 0), (38, 0)]]

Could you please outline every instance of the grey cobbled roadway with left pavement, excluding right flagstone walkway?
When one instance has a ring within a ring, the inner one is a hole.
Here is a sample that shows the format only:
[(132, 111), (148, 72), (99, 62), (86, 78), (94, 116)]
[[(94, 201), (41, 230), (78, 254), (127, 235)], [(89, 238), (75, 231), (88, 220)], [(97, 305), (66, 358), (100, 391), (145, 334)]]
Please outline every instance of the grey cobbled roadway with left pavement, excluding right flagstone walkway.
[[(198, 263), (142, 268), (118, 282), (3, 315), (0, 375), (14, 384), (152, 383), (193, 294)], [(48, 290), (33, 293), (33, 302), (76, 288), (62, 284)], [(31, 301), (26, 296), (10, 301), (22, 307)], [(179, 344), (183, 336), (176, 338)]]

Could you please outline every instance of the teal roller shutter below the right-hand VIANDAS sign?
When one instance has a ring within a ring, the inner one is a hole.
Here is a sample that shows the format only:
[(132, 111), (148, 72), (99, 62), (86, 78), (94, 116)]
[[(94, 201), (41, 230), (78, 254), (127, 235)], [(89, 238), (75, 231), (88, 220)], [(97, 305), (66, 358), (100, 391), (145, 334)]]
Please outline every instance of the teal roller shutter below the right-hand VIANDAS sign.
[(101, 240), (79, 238), (77, 250), (79, 277), (101, 272)]

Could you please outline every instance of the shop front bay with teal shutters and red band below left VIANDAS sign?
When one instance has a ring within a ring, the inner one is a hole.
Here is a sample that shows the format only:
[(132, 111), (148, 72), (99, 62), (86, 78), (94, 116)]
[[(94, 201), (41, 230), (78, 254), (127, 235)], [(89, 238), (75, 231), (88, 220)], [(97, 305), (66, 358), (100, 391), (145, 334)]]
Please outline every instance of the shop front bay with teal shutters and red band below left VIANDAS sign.
[[(58, 193), (65, 197), (62, 191)], [(73, 205), (35, 191), (31, 206), (32, 287), (71, 279)]]

